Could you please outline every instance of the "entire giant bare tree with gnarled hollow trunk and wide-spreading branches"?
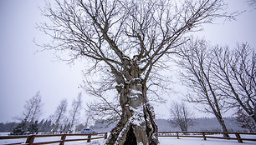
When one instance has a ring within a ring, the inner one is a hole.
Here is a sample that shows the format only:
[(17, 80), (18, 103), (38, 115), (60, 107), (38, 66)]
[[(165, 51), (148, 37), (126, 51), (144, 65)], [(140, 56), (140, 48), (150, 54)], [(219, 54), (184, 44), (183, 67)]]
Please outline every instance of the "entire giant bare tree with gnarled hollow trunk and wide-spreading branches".
[(152, 72), (186, 41), (188, 32), (227, 17), (224, 11), (223, 0), (56, 0), (44, 11), (50, 23), (39, 28), (53, 39), (43, 47), (68, 52), (70, 61), (90, 60), (92, 69), (115, 78), (121, 117), (106, 144), (157, 144), (147, 97), (147, 82), (157, 74)]

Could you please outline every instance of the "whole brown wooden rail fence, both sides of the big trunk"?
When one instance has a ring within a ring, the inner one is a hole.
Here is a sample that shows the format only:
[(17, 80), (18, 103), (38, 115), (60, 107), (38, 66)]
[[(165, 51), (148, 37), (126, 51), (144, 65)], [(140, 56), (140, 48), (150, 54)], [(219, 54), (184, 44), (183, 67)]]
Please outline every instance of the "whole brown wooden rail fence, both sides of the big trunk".
[[(243, 141), (254, 141), (256, 142), (256, 133), (236, 133), (236, 132), (227, 132), (229, 135), (233, 135), (230, 138), (224, 138), (223, 133), (226, 132), (158, 132), (158, 137), (176, 137), (176, 138), (217, 138), (217, 139), (229, 139), (229, 140), (238, 140), (238, 143), (243, 143)], [(216, 135), (220, 136), (216, 136)], [(42, 135), (23, 135), (23, 136), (0, 136), (0, 140), (8, 139), (20, 139), (25, 138), (26, 142), (24, 143), (8, 143), (10, 144), (29, 144), (29, 145), (38, 145), (38, 144), (51, 144), (59, 143), (59, 145), (64, 145), (66, 142), (76, 142), (76, 141), (87, 141), (90, 143), (91, 140), (107, 138), (107, 133), (94, 133), (94, 134), (42, 134)], [(241, 136), (242, 135), (242, 136)], [(250, 135), (251, 138), (244, 138), (243, 135)], [(85, 137), (85, 138), (67, 138), (67, 137)], [(48, 141), (48, 142), (34, 142), (35, 138), (52, 138), (59, 137), (59, 140)], [(235, 137), (235, 138), (234, 138)], [(8, 145), (5, 144), (5, 145)]]

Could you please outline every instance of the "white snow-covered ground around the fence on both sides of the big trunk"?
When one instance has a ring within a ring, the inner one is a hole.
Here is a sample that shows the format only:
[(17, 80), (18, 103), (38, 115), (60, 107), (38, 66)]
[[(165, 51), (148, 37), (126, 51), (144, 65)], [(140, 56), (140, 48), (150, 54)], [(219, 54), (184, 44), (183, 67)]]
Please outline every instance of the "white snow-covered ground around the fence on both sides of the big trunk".
[[(0, 133), (0, 136), (8, 135), (4, 133)], [(214, 135), (215, 137), (218, 135)], [(73, 137), (73, 138), (81, 138), (81, 137)], [(248, 136), (244, 138), (256, 138), (256, 136)], [(71, 138), (67, 138), (71, 139)], [(35, 138), (34, 143), (38, 142), (46, 142), (46, 141), (54, 141), (59, 140), (58, 137), (56, 138)], [(26, 139), (15, 139), (15, 140), (0, 140), (0, 144), (7, 144), (7, 143), (24, 143)], [(173, 137), (160, 137), (159, 138), (160, 145), (255, 145), (256, 142), (250, 142), (250, 141), (243, 141), (243, 143), (238, 143), (237, 140), (224, 140), (224, 139), (213, 139), (213, 138), (207, 138), (207, 141), (203, 140), (202, 138), (173, 138)], [(87, 143), (86, 141), (80, 141), (80, 142), (70, 142), (70, 143), (64, 143), (65, 145), (102, 145), (105, 143), (105, 139), (97, 139), (92, 140), (91, 143)], [(59, 145), (59, 143), (54, 143), (56, 145)]]

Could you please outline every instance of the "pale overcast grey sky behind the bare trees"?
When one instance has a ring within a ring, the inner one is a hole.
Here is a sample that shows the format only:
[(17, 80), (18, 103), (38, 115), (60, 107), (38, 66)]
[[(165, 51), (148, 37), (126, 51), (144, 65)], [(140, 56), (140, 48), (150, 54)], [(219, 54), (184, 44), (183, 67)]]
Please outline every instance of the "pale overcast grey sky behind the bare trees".
[[(200, 36), (213, 44), (235, 46), (248, 42), (256, 48), (256, 7), (246, 0), (228, 0), (230, 10), (247, 10), (235, 22), (218, 21), (205, 26)], [(12, 121), (23, 111), (26, 100), (41, 92), (44, 117), (54, 112), (63, 98), (69, 104), (81, 91), (81, 69), (84, 64), (67, 65), (54, 57), (53, 52), (38, 52), (33, 37), (43, 39), (36, 23), (44, 22), (38, 7), (44, 0), (0, 0), (0, 122)], [(86, 97), (84, 97), (86, 100)], [(156, 106), (156, 115), (163, 117), (167, 104)]]

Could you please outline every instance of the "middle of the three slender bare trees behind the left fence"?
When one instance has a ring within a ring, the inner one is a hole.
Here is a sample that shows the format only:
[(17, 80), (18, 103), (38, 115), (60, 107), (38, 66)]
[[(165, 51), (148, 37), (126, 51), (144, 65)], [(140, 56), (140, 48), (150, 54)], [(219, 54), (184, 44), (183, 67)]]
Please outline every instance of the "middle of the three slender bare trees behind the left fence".
[[(67, 111), (68, 102), (67, 100), (62, 100), (59, 106), (56, 108), (54, 115), (51, 116), (52, 122), (54, 123), (54, 127), (52, 129), (52, 133), (56, 133), (59, 131), (60, 126), (62, 125), (61, 122), (64, 119), (64, 114)], [(61, 130), (61, 129), (60, 129)]]

